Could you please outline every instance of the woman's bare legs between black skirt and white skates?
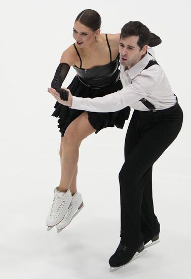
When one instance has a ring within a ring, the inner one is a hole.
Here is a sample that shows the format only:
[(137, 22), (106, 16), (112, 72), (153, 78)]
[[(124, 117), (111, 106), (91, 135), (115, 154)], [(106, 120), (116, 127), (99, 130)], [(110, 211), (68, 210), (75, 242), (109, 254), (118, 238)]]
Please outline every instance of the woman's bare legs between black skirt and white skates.
[(88, 135), (95, 132), (88, 120), (87, 112), (82, 113), (67, 127), (61, 140), (61, 179), (58, 190), (66, 192), (70, 188), (72, 194), (77, 191), (79, 147)]

